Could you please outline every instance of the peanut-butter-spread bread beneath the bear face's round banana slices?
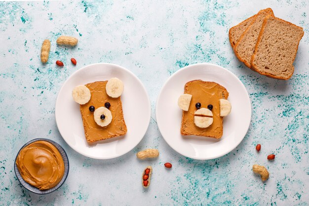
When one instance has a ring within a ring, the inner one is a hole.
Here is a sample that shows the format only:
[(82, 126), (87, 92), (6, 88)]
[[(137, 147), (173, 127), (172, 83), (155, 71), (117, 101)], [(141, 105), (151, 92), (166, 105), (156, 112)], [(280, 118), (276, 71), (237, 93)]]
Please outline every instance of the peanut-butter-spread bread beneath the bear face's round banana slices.
[[(87, 142), (109, 139), (124, 135), (127, 132), (120, 97), (112, 98), (107, 95), (105, 89), (107, 82), (92, 82), (85, 85), (90, 90), (91, 98), (86, 104), (80, 105), (80, 114)], [(109, 110), (112, 113), (113, 119), (109, 125), (102, 127), (94, 121), (93, 112), (89, 111), (89, 107), (104, 107), (105, 102), (111, 104)]]

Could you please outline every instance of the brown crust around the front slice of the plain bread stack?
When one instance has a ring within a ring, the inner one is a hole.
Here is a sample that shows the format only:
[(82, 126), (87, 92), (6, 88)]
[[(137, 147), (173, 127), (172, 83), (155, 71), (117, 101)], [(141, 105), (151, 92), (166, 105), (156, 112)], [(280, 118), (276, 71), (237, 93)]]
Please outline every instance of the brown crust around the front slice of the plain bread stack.
[(286, 77), (286, 78), (274, 76), (274, 75), (272, 75), (272, 74), (270, 74), (270, 73), (267, 73), (267, 72), (262, 72), (262, 71), (258, 70), (257, 65), (254, 64), (254, 62), (253, 62), (254, 59), (255, 59), (255, 56), (256, 56), (256, 53), (257, 53), (259, 44), (260, 44), (260, 42), (261, 42), (261, 40), (262, 40), (262, 37), (263, 37), (263, 33), (264, 33), (264, 30), (265, 30), (266, 24), (267, 24), (268, 19), (269, 19), (270, 17), (272, 17), (272, 18), (274, 18), (274, 19), (276, 19), (276, 20), (278, 20), (278, 21), (284, 22), (284, 23), (286, 23), (286, 24), (288, 24), (288, 25), (297, 27), (297, 28), (299, 28), (299, 29), (301, 29), (301, 30), (303, 31), (302, 36), (301, 36), (300, 39), (298, 40), (297, 48), (298, 48), (298, 46), (299, 46), (299, 43), (300, 43), (301, 39), (302, 39), (303, 36), (304, 36), (304, 29), (303, 29), (302, 27), (299, 27), (299, 26), (297, 26), (297, 25), (295, 25), (295, 24), (292, 24), (291, 22), (285, 21), (285, 20), (280, 19), (280, 18), (278, 18), (278, 17), (268, 15), (268, 16), (264, 19), (264, 21), (263, 21), (262, 28), (261, 28), (261, 31), (260, 31), (260, 34), (259, 34), (259, 37), (258, 37), (258, 41), (257, 41), (257, 43), (255, 44), (254, 53), (253, 53), (253, 55), (251, 56), (251, 61), (250, 61), (250, 62), (251, 62), (252, 68), (254, 68), (254, 70), (255, 70), (256, 72), (258, 72), (259, 74), (261, 74), (261, 75), (265, 75), (265, 76), (267, 76), (267, 77), (270, 77), (270, 78), (273, 78), (273, 79), (277, 79), (277, 80), (288, 80), (288, 79), (290, 79), (290, 78), (293, 76), (293, 73), (294, 73), (293, 62), (295, 61), (295, 58), (296, 58), (296, 54), (297, 54), (298, 49), (296, 49), (295, 54), (294, 54), (294, 57), (293, 57), (293, 61), (291, 62), (291, 66), (292, 66), (292, 68), (293, 68), (293, 72), (291, 73), (290, 76), (288, 76), (288, 77)]

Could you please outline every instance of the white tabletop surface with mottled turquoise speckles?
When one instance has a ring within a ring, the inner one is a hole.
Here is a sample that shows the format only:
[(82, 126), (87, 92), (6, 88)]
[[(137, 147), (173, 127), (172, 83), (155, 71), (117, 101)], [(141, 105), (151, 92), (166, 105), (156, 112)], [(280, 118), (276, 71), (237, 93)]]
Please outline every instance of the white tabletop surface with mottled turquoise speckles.
[[(305, 30), (289, 81), (244, 67), (228, 40), (230, 27), (266, 7)], [(308, 16), (308, 0), (0, 2), (0, 205), (309, 205)], [(57, 46), (60, 35), (77, 37), (78, 45)], [(44, 39), (51, 41), (46, 65), (39, 60)], [(56, 60), (65, 66), (57, 67)], [(60, 136), (54, 114), (63, 82), (78, 68), (97, 62), (128, 68), (145, 84), (152, 103), (152, 120), (141, 143), (120, 158), (104, 161), (73, 151)], [(230, 154), (210, 161), (174, 152), (161, 137), (154, 115), (167, 78), (201, 62), (232, 71), (252, 102), (244, 140)], [(18, 150), (38, 137), (60, 143), (71, 166), (65, 184), (44, 196), (23, 188), (13, 171)], [(262, 144), (259, 154), (257, 143)], [(159, 149), (160, 157), (138, 161), (137, 151), (147, 147)], [(270, 153), (276, 154), (273, 162), (266, 159)], [(173, 168), (166, 170), (165, 162)], [(253, 174), (253, 164), (269, 169), (267, 182)], [(154, 174), (145, 190), (140, 178), (147, 165)]]

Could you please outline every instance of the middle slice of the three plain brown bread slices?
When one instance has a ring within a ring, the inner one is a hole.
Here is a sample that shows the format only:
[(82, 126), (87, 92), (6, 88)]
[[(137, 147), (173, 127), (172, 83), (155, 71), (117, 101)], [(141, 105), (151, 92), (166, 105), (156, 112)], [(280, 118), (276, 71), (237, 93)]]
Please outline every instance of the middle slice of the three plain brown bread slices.
[(254, 52), (255, 44), (258, 41), (263, 21), (268, 15), (273, 16), (271, 8), (260, 10), (256, 14), (254, 21), (240, 36), (238, 42), (234, 46), (236, 57), (249, 68), (251, 68), (251, 57)]

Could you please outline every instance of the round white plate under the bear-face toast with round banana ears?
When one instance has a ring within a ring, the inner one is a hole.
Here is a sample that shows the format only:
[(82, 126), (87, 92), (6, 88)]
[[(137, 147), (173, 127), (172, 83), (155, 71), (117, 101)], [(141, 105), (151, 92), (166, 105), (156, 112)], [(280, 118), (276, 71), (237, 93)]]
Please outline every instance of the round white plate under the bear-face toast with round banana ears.
[[(113, 77), (124, 84), (121, 95), (127, 133), (97, 143), (85, 138), (79, 104), (72, 89), (79, 84), (106, 81)], [(116, 158), (132, 150), (144, 137), (150, 122), (150, 100), (142, 82), (129, 70), (115, 64), (91, 64), (77, 70), (61, 87), (55, 108), (56, 123), (64, 140), (78, 153), (95, 159)]]

